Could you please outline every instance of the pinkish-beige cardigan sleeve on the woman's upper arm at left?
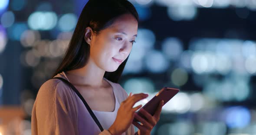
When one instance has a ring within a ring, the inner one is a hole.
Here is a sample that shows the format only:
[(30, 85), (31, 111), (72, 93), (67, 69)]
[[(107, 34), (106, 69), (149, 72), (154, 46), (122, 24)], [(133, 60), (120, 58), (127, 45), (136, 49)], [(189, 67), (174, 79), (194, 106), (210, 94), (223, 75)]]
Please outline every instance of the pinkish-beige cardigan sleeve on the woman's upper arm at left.
[(75, 104), (63, 85), (46, 82), (39, 89), (32, 110), (32, 135), (78, 135)]

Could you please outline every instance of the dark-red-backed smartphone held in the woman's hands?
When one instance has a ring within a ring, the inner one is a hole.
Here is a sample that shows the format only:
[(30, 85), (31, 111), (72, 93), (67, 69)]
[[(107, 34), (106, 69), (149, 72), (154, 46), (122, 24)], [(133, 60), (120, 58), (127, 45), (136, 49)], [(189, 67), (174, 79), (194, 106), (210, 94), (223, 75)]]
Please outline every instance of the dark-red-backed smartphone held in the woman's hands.
[[(148, 101), (142, 108), (145, 109), (148, 113), (151, 114), (151, 116), (154, 115), (154, 112), (157, 110), (158, 105), (161, 100), (164, 100), (164, 104), (167, 103), (171, 98), (173, 98), (180, 90), (176, 88), (171, 87), (163, 87), (151, 100)], [(141, 114), (139, 111), (136, 112), (139, 116), (141, 116), (144, 119), (147, 119), (144, 117), (143, 114)], [(138, 122), (137, 119), (133, 119), (133, 121)]]

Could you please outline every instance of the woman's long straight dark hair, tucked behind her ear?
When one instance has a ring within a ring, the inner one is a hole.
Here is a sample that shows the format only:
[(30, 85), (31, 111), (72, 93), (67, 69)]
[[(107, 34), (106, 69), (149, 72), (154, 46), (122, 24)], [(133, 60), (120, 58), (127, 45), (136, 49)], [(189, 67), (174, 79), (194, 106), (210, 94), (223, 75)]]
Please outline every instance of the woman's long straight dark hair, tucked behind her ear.
[[(79, 69), (86, 65), (90, 55), (90, 45), (84, 39), (86, 27), (91, 27), (97, 34), (102, 29), (111, 26), (116, 18), (126, 13), (130, 13), (138, 21), (138, 13), (128, 0), (89, 0), (79, 16), (69, 47), (53, 77), (62, 71)], [(104, 77), (118, 83), (128, 58), (119, 65), (116, 71), (106, 71)]]

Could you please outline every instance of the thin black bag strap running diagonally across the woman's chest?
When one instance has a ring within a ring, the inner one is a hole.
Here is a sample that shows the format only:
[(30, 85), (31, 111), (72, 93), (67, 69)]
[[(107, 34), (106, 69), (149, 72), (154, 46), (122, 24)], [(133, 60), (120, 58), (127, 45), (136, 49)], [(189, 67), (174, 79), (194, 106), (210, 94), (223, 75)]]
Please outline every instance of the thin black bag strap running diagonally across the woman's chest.
[(102, 125), (100, 124), (100, 122), (98, 121), (97, 117), (95, 116), (95, 114), (92, 112), (92, 109), (89, 107), (89, 105), (86, 103), (85, 99), (82, 97), (82, 95), (79, 93), (79, 91), (74, 87), (74, 85), (72, 85), (68, 80), (62, 78), (62, 77), (54, 77), (53, 79), (59, 79), (62, 80), (64, 83), (68, 84), (72, 90), (75, 91), (75, 93), (77, 94), (77, 96), (79, 96), (79, 98), (82, 100), (82, 102), (84, 103), (86, 109), (88, 110), (88, 112), (90, 113), (90, 115), (92, 116), (92, 119), (95, 121), (95, 123), (98, 125), (99, 129), (101, 131), (103, 131), (104, 129), (102, 128)]

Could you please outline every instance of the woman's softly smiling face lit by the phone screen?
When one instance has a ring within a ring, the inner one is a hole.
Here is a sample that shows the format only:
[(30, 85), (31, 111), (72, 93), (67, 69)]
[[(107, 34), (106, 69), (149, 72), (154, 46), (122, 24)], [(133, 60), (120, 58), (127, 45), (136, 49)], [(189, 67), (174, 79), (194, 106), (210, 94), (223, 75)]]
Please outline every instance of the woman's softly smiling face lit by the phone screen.
[(131, 14), (117, 19), (98, 35), (92, 35), (90, 59), (101, 69), (113, 72), (131, 52), (138, 31), (138, 22)]

